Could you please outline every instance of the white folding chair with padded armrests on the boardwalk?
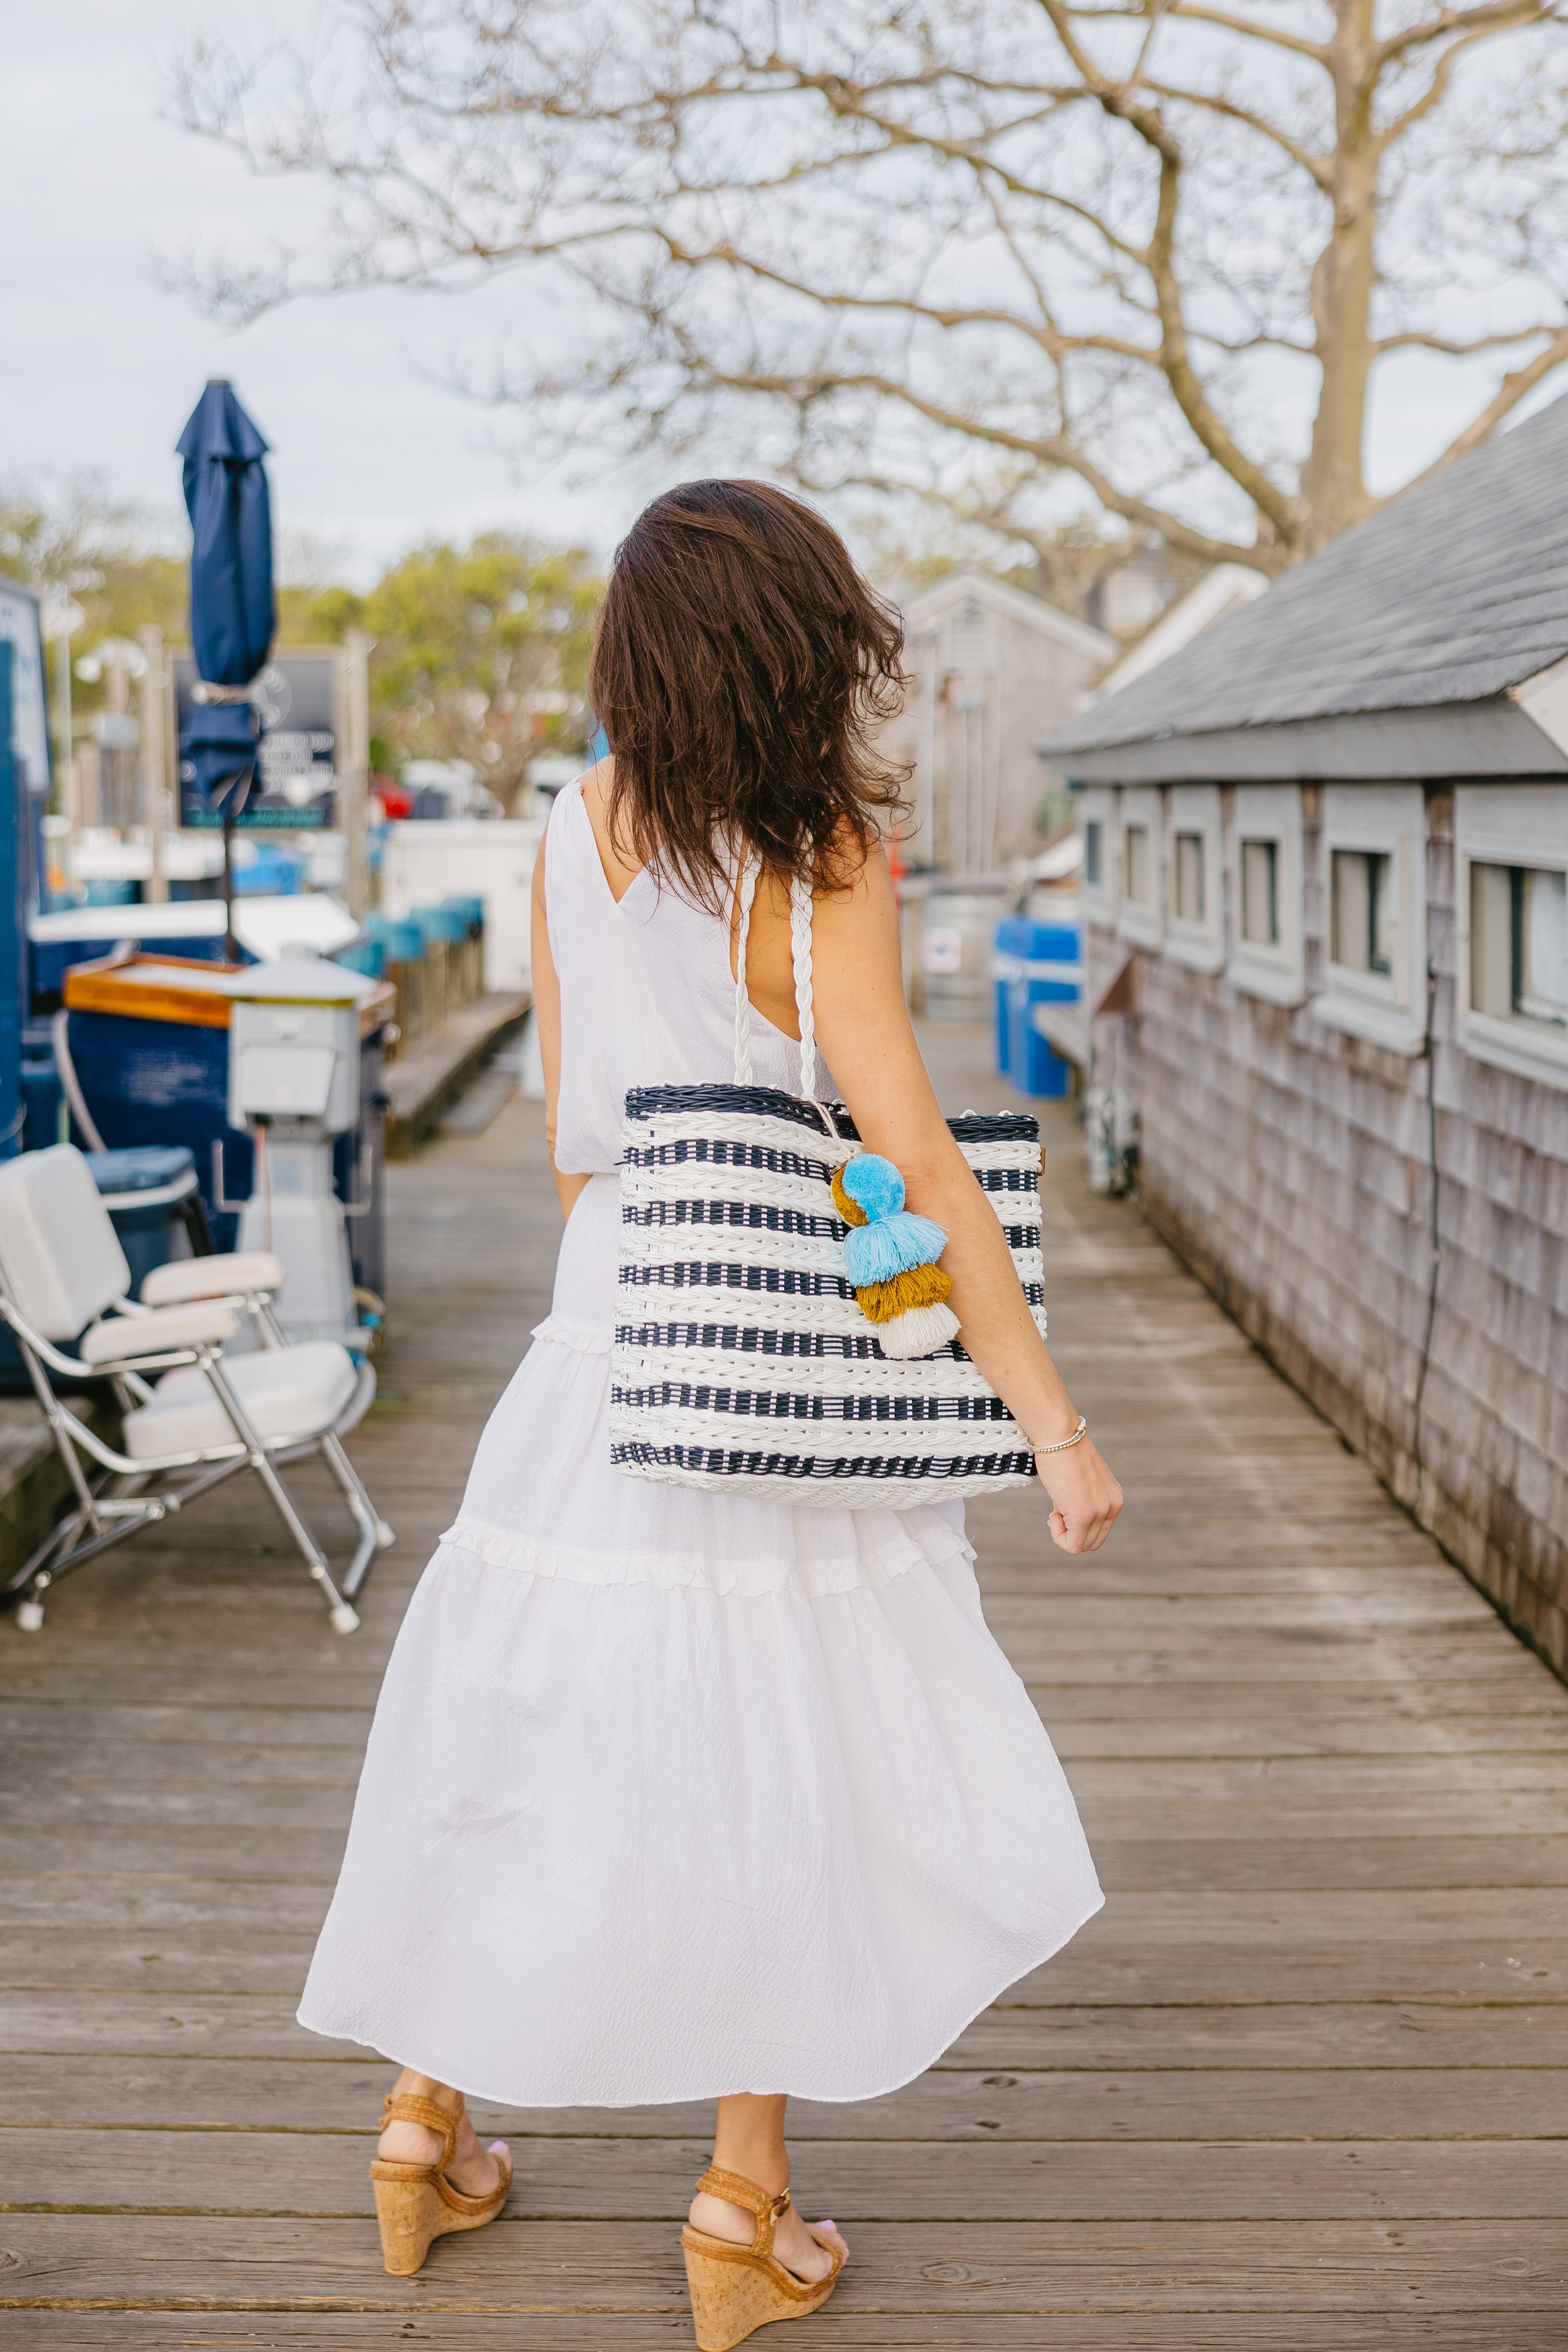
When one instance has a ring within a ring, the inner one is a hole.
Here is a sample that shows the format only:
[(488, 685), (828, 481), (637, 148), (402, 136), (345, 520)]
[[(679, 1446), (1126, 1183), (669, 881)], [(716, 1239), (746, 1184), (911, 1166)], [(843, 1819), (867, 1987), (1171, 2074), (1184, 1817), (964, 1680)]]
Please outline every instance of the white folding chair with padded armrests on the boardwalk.
[[(268, 1254), (158, 1265), (141, 1298), (87, 1162), (71, 1143), (0, 1164), (0, 1317), (16, 1334), (38, 1402), (71, 1477), (75, 1505), (0, 1588), (19, 1597), (24, 1632), (42, 1628), (42, 1597), (85, 1559), (125, 1543), (254, 1470), (322, 1585), (339, 1632), (360, 1623), (353, 1597), (393, 1529), (376, 1515), (341, 1435), (369, 1409), (376, 1374), (336, 1341), (289, 1345), (270, 1296), (282, 1263)], [(240, 1317), (259, 1345), (226, 1355)], [(75, 1355), (61, 1350), (75, 1341)], [(153, 1376), (158, 1385), (148, 1385)], [(108, 1378), (125, 1411), (122, 1451), (56, 1392), (56, 1381)], [(343, 1489), (360, 1541), (334, 1583), (277, 1465), (320, 1454)]]

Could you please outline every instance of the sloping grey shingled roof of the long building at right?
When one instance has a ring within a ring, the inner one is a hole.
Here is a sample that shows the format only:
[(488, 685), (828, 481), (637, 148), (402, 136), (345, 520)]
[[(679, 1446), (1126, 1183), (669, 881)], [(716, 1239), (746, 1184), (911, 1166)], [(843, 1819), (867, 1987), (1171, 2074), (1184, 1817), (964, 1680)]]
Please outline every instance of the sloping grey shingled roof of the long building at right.
[(1568, 654), (1568, 397), (1058, 727), (1074, 750), (1486, 701)]

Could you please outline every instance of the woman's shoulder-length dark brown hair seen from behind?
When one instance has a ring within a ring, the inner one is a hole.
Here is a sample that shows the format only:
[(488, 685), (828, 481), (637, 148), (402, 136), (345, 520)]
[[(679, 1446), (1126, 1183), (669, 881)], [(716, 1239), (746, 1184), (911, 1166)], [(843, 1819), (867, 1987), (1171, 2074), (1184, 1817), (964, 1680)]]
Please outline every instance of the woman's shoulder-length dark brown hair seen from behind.
[(590, 694), (616, 774), (609, 826), (722, 908), (750, 844), (842, 887), (900, 807), (870, 731), (903, 694), (903, 623), (820, 515), (769, 482), (682, 482), (609, 576)]

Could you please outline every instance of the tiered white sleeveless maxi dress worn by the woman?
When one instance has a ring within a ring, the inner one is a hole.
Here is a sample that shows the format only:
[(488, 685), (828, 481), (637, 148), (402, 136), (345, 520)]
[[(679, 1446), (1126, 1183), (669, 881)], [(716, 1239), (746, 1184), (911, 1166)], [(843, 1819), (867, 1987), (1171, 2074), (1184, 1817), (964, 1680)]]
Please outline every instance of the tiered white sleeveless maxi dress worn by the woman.
[[(592, 1181), (397, 1637), (299, 2016), (510, 2105), (870, 2098), (1100, 1889), (959, 1501), (611, 1470), (623, 1098), (731, 1077), (729, 936), (654, 873), (616, 903), (576, 786), (545, 891)], [(797, 1051), (755, 1018), (757, 1084)]]

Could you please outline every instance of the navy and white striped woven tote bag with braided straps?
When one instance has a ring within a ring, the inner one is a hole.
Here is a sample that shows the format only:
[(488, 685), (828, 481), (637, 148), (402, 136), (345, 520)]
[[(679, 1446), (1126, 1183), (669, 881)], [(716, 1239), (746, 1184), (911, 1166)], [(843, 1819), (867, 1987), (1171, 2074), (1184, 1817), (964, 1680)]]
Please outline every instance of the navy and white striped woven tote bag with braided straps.
[[(621, 1160), (611, 1461), (635, 1477), (832, 1510), (914, 1510), (1034, 1477), (1027, 1437), (964, 1348), (884, 1352), (851, 1287), (835, 1169), (860, 1138), (816, 1098), (811, 889), (790, 931), (799, 1096), (755, 1087), (745, 934), (757, 868), (741, 873), (736, 1077), (632, 1087)], [(1001, 1218), (1044, 1338), (1039, 1122), (947, 1122)]]

